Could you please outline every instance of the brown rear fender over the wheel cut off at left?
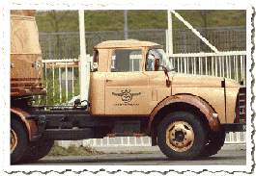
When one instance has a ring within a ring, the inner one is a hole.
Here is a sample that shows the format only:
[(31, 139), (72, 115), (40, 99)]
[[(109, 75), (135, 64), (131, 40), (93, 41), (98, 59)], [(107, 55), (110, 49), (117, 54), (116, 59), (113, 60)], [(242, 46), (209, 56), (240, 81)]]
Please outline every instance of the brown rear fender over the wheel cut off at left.
[(38, 135), (38, 127), (36, 122), (32, 119), (26, 119), (26, 116), (30, 116), (30, 114), (22, 111), (19, 108), (11, 108), (11, 113), (15, 113), (25, 123), (29, 140), (32, 141), (32, 138)]

